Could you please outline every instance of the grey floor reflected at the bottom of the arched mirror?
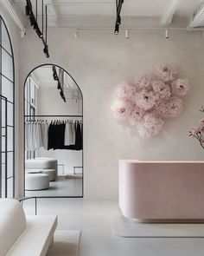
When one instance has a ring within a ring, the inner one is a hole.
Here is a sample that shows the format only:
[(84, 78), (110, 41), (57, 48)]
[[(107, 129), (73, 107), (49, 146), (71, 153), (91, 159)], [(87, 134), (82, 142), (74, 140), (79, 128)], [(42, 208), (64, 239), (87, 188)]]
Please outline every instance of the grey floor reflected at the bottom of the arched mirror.
[(44, 190), (25, 191), (29, 196), (82, 196), (82, 182), (80, 176), (60, 176), (58, 181), (49, 182), (49, 188)]

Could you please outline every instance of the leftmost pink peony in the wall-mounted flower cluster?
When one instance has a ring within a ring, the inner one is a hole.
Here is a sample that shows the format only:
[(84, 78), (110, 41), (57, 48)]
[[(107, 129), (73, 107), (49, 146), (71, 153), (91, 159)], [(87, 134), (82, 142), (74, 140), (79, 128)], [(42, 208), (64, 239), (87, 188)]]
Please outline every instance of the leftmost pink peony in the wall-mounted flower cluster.
[(124, 119), (131, 114), (132, 104), (127, 101), (115, 101), (112, 103), (112, 115), (116, 119)]

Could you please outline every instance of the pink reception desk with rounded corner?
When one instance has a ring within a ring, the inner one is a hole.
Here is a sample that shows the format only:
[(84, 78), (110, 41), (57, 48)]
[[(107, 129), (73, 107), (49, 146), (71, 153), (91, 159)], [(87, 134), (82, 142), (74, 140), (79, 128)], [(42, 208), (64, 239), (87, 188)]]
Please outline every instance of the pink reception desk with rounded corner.
[(119, 207), (139, 221), (204, 221), (204, 161), (119, 161)]

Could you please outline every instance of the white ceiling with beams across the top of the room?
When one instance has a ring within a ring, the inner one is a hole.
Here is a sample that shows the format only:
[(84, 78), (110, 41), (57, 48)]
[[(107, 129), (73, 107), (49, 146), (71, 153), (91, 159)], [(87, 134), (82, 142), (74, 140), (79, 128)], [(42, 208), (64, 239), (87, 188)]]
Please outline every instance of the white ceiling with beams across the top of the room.
[[(24, 15), (25, 0), (12, 0)], [(35, 10), (35, 0), (31, 0)], [(38, 13), (41, 16), (41, 1), (38, 0)], [(174, 8), (173, 15), (189, 21), (192, 11), (201, 4), (202, 0), (124, 0), (121, 16), (130, 19), (139, 17), (156, 17), (160, 21), (163, 16), (168, 16)], [(116, 16), (115, 0), (44, 0), (48, 6), (49, 26), (80, 27), (105, 26), (107, 20), (114, 25)], [(130, 18), (131, 17), (131, 18)], [(128, 22), (127, 22), (128, 20)]]

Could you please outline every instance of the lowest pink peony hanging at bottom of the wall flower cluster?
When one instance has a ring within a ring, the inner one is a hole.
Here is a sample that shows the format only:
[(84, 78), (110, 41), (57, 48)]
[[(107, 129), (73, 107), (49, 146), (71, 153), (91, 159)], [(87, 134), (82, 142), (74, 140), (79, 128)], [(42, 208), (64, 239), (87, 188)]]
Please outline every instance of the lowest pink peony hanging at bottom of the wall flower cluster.
[(144, 115), (143, 120), (137, 126), (139, 135), (144, 139), (157, 135), (162, 128), (163, 120), (156, 118), (156, 116), (152, 114)]

